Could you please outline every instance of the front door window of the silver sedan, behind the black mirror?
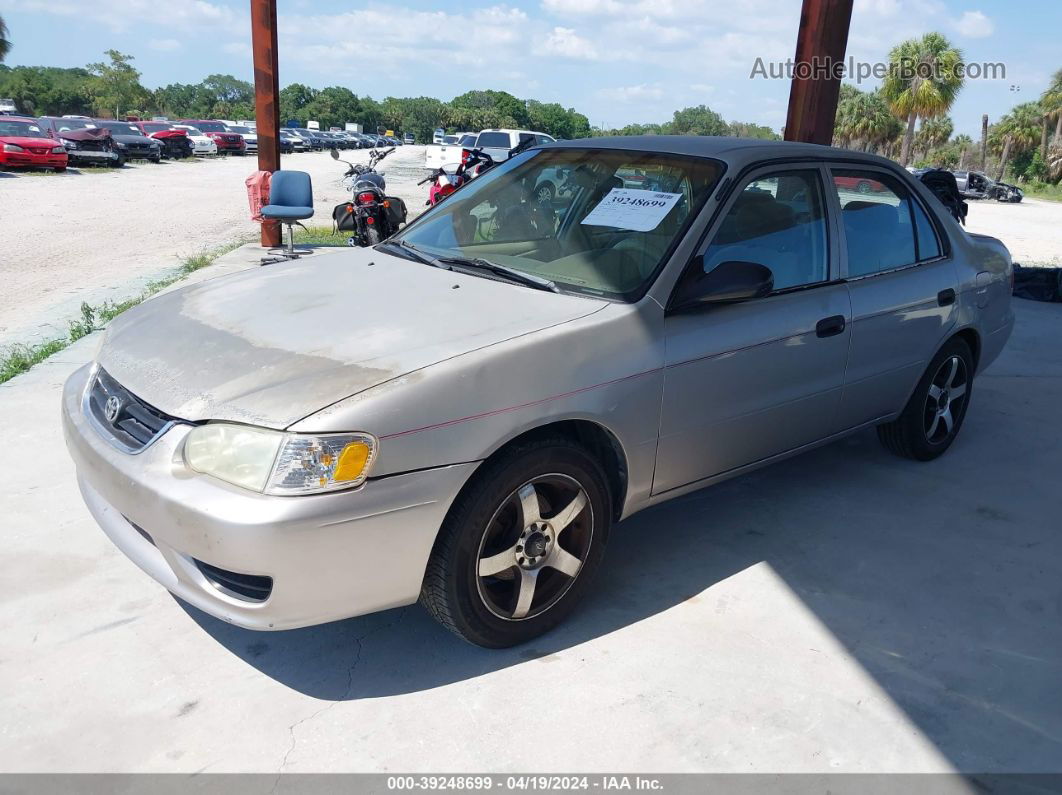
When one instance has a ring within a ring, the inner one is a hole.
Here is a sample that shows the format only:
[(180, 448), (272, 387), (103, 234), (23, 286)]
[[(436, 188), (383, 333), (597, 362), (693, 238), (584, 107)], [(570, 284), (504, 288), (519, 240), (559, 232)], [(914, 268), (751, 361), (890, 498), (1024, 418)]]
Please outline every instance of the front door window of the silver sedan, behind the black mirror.
[(767, 265), (774, 289), (826, 281), (828, 255), (818, 171), (785, 171), (749, 183), (704, 253), (704, 270), (743, 260)]

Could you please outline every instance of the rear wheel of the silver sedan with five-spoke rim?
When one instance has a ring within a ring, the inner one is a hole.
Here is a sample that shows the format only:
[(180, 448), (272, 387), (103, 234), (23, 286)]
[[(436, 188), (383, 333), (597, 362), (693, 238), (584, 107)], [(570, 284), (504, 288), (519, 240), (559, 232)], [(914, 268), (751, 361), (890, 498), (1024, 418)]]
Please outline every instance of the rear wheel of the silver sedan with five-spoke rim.
[(973, 386), (974, 356), (965, 342), (953, 338), (929, 363), (903, 413), (877, 427), (877, 437), (895, 455), (932, 461), (959, 434)]

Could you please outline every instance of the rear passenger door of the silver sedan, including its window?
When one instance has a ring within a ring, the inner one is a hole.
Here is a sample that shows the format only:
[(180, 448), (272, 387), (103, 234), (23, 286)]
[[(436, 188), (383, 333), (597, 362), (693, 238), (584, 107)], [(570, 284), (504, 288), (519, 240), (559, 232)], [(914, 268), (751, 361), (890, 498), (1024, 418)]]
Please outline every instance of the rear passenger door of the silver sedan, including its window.
[[(958, 282), (944, 238), (912, 191), (873, 167), (830, 169), (852, 298), (852, 351), (835, 431), (901, 411), (948, 329)], [(870, 190), (847, 186), (867, 182)]]

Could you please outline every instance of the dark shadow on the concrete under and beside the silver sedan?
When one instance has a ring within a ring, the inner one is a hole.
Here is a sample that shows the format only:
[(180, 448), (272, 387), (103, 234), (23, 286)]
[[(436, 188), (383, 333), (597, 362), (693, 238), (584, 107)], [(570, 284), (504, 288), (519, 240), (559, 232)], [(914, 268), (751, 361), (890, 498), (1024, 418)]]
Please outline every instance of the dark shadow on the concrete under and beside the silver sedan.
[[(1014, 356), (1029, 359), (1027, 344)], [(1054, 358), (1035, 366), (1062, 376)], [(524, 646), (467, 645), (419, 606), (270, 634), (185, 609), (294, 690), (372, 698), (548, 661), (766, 563), (957, 768), (1057, 772), (1062, 500), (1043, 486), (1062, 448), (1038, 418), (1062, 403), (1062, 378), (1030, 391), (1021, 369), (978, 381), (935, 462), (893, 457), (863, 432), (621, 522), (585, 603)], [(690, 633), (707, 632), (689, 615)]]

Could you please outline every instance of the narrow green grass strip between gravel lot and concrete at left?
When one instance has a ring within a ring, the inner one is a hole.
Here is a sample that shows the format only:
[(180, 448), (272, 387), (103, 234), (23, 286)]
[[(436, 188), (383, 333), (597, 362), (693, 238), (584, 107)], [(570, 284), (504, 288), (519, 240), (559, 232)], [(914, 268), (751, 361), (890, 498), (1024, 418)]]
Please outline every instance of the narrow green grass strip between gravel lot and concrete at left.
[(81, 305), (81, 317), (70, 321), (70, 330), (66, 336), (54, 340), (46, 340), (36, 345), (12, 345), (6, 350), (0, 352), (0, 383), (10, 381), (15, 376), (25, 373), (35, 364), (48, 359), (48, 357), (58, 353), (69, 345), (78, 342), (82, 338), (88, 336), (93, 331), (103, 328), (107, 323), (120, 315), (127, 309), (132, 309), (138, 304), (142, 304), (156, 293), (174, 284), (195, 271), (201, 271), (211, 264), (218, 257), (228, 254), (239, 248), (244, 241), (228, 243), (201, 254), (186, 257), (181, 266), (171, 275), (165, 276), (155, 281), (149, 281), (139, 295), (120, 301), (104, 301), (98, 306), (87, 303)]

